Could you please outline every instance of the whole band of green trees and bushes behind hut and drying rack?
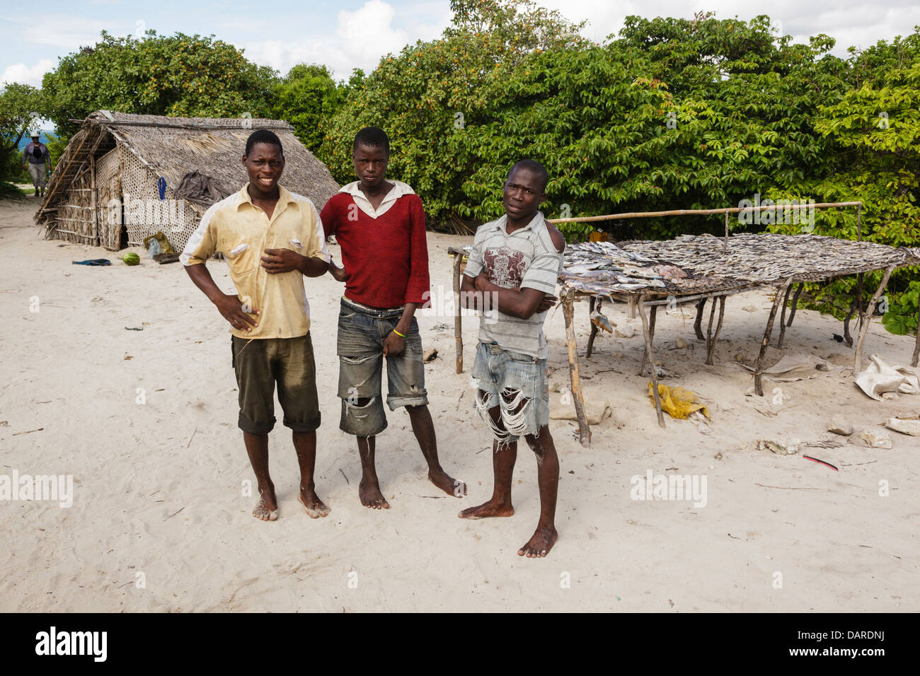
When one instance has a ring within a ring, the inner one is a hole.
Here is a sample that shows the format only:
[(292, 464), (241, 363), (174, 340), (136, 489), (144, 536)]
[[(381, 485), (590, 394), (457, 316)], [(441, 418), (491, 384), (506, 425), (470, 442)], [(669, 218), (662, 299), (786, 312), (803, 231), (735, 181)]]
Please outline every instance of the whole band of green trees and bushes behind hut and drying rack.
[[(353, 179), (354, 133), (374, 124), (391, 138), (391, 176), (416, 189), (435, 224), (500, 215), (501, 182), (529, 156), (549, 170), (550, 216), (733, 206), (758, 196), (858, 200), (865, 238), (920, 246), (920, 28), (841, 59), (831, 37), (793, 44), (765, 16), (627, 17), (618, 35), (594, 43), (581, 38), (581, 25), (531, 0), (451, 6), (441, 38), (338, 84), (316, 64), (281, 76), (213, 36), (103, 33), (63, 58), (40, 91), (7, 86), (0, 133), (8, 148), (36, 106), (57, 125), (55, 149), (75, 131), (70, 120), (100, 108), (248, 112), (291, 121), (344, 183)], [(601, 227), (626, 239), (718, 233), (723, 224), (709, 216)], [(856, 212), (817, 212), (813, 228), (855, 239)], [(561, 229), (572, 240), (593, 228)], [(867, 298), (878, 280), (867, 276)], [(842, 316), (853, 283), (811, 284), (806, 297)], [(886, 326), (915, 330), (920, 270), (898, 270), (889, 290)]]

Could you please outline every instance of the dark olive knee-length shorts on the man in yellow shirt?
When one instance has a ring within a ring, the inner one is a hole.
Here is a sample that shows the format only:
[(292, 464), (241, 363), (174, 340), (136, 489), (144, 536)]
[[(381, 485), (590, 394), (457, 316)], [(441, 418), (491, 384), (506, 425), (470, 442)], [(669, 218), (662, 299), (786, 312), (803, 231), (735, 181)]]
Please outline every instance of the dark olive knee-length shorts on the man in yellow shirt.
[(319, 427), (316, 364), (309, 332), (298, 338), (231, 336), (239, 388), (239, 429), (268, 434), (275, 426), (275, 383), (283, 424), (297, 432)]

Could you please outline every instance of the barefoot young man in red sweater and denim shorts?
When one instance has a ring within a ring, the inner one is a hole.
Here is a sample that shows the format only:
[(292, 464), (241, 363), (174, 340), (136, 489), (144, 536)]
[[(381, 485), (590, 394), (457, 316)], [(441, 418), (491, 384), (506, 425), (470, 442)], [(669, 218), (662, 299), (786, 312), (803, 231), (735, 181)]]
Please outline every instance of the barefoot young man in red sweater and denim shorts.
[(386, 404), (391, 411), (406, 407), (431, 483), (457, 498), (466, 495), (466, 484), (447, 475), (438, 462), (414, 316), (431, 286), (425, 212), (408, 185), (386, 180), (389, 155), (382, 129), (358, 132), (353, 161), (359, 180), (340, 189), (320, 213), (326, 235), (336, 235), (342, 251), (343, 267), (332, 264), (329, 271), (345, 282), (339, 312), (339, 427), (358, 438), (358, 496), (374, 510), (389, 508), (374, 466), (374, 439), (386, 429), (384, 358)]

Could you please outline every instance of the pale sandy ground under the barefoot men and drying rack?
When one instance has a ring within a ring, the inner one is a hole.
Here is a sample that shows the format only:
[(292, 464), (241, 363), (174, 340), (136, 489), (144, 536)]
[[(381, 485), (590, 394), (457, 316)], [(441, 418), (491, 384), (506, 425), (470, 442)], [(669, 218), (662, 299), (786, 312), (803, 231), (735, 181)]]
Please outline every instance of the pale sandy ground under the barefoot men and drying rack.
[[(180, 265), (144, 259), (131, 268), (100, 248), (42, 240), (34, 209), (32, 200), (0, 203), (0, 475), (73, 475), (75, 497), (70, 508), (0, 500), (0, 611), (920, 610), (920, 440), (892, 431), (893, 448), (878, 450), (826, 431), (832, 414), (880, 430), (885, 418), (920, 412), (920, 396), (872, 401), (848, 370), (781, 384), (788, 399), (779, 405), (769, 394), (776, 384), (766, 383), (758, 401), (745, 396), (753, 379), (732, 362), (758, 349), (765, 293), (730, 297), (715, 366), (703, 365), (690, 306), (684, 317), (659, 315), (657, 358), (673, 373), (662, 382), (703, 398), (708, 434), (671, 418), (658, 427), (648, 379), (637, 375), (641, 334), (604, 334), (584, 359), (587, 304), (576, 305), (586, 399), (609, 401), (614, 414), (593, 428), (590, 449), (574, 422), (551, 422), (559, 540), (546, 559), (528, 560), (516, 551), (533, 532), (539, 497), (525, 445), (513, 518), (456, 518), (491, 492), (489, 432), (468, 389), (475, 317), (464, 324), (466, 372), (458, 375), (453, 318), (420, 316), (425, 349), (439, 352), (426, 378), (443, 465), (466, 480), (469, 496), (431, 486), (408, 417), (397, 411), (377, 441), (391, 509), (371, 511), (358, 500), (354, 441), (338, 429), (340, 287), (328, 276), (307, 280), (324, 414), (316, 488), (332, 513), (313, 521), (297, 503), (296, 459), (279, 422), (270, 453), (281, 519), (263, 523), (243, 496), (253, 476), (236, 429), (224, 320)], [(436, 294), (451, 288), (447, 247), (464, 243), (429, 235)], [(71, 265), (101, 257), (113, 265)], [(224, 263), (211, 269), (229, 291)], [(751, 304), (757, 312), (742, 309)], [(622, 307), (608, 314), (626, 321)], [(832, 317), (799, 311), (787, 350), (851, 364), (834, 332), (842, 328)], [(565, 384), (561, 311), (547, 319), (546, 335), (551, 380)], [(678, 337), (690, 347), (675, 349)], [(885, 333), (878, 320), (870, 327), (867, 357), (904, 364), (912, 348), (913, 338)], [(779, 355), (771, 349), (769, 363)], [(551, 395), (554, 410), (561, 396)], [(803, 449), (840, 471), (753, 447), (781, 437), (843, 441)], [(706, 505), (631, 498), (631, 477), (649, 471), (705, 477)]]

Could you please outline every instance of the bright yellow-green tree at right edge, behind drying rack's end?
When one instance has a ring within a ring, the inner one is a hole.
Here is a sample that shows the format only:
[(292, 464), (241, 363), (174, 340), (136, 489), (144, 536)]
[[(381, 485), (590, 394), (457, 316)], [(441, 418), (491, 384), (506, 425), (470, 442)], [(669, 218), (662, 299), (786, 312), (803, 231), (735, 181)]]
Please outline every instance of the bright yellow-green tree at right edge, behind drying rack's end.
[[(834, 152), (822, 170), (793, 181), (786, 191), (817, 201), (862, 201), (863, 239), (888, 246), (920, 246), (920, 27), (891, 43), (880, 40), (865, 52), (852, 52), (847, 79), (852, 88), (818, 107), (815, 129)], [(776, 226), (777, 231), (790, 228)], [(857, 239), (853, 210), (819, 212), (814, 232)], [(863, 304), (881, 273), (866, 276)], [(848, 312), (856, 282), (845, 278), (809, 285), (813, 307), (838, 318)], [(895, 270), (886, 290), (883, 317), (891, 333), (917, 329), (920, 269)]]

